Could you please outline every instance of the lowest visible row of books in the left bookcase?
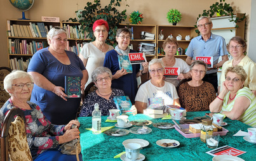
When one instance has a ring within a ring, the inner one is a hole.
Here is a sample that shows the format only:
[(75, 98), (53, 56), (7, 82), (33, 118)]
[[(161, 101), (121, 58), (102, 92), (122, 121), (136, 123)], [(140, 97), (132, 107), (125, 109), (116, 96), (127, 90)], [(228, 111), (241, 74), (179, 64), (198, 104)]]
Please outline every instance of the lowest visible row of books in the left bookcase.
[(10, 59), (10, 67), (12, 70), (25, 70), (27, 67), (29, 67), (30, 60), (31, 58), (27, 58), (27, 60), (23, 60), (23, 58)]

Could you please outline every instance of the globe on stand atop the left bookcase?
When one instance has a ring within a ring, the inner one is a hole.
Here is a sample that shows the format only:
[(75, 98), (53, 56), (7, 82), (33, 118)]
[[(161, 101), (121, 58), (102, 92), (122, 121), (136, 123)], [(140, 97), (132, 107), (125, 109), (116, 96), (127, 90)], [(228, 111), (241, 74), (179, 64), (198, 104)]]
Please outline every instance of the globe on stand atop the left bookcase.
[(9, 0), (9, 1), (15, 8), (22, 11), (22, 18), (20, 18), (19, 20), (29, 20), (25, 18), (24, 11), (27, 11), (30, 8), (32, 8), (34, 4), (34, 0)]

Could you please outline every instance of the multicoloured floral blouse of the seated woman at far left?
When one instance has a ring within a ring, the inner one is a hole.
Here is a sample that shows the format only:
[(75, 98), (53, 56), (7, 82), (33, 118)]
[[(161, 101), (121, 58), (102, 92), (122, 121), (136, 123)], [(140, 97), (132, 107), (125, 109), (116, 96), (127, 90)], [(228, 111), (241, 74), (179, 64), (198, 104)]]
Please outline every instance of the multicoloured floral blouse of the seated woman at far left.
[[(32, 110), (24, 110), (26, 119), (26, 132), (27, 142), (29, 144), (30, 152), (33, 160), (41, 153), (46, 150), (57, 150), (58, 149), (58, 136), (64, 134), (65, 126), (56, 126), (46, 119), (41, 112), (41, 109), (35, 103), (27, 101)], [(5, 115), (11, 108), (17, 106), (13, 105), (11, 99), (4, 103), (0, 110), (0, 129)]]

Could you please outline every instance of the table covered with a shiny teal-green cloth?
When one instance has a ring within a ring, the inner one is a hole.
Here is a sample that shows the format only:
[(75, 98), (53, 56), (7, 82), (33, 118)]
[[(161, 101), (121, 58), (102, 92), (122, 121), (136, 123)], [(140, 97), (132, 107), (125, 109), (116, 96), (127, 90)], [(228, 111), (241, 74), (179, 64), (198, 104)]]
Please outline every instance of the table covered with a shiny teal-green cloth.
[[(187, 112), (187, 119), (193, 119), (194, 117), (204, 116), (204, 112)], [(114, 126), (114, 122), (105, 122), (106, 116), (102, 116), (102, 127)], [(129, 120), (147, 119), (153, 123), (157, 122), (172, 122), (172, 120), (152, 119), (143, 114), (131, 115)], [(107, 136), (106, 134), (94, 135), (91, 131), (85, 128), (91, 128), (91, 117), (79, 117), (81, 126), (81, 148), (83, 154), (83, 160), (120, 160), (120, 158), (114, 158), (115, 155), (125, 151), (125, 147), (122, 145), (126, 139), (145, 139), (149, 141), (149, 146), (140, 150), (140, 153), (145, 155), (145, 160), (212, 160), (213, 156), (205, 153), (212, 149), (206, 146), (200, 138), (184, 138), (175, 129), (158, 129), (149, 125), (152, 132), (149, 134), (132, 134), (131, 132), (126, 136)], [(243, 136), (232, 136), (241, 129), (247, 131), (250, 127), (238, 120), (224, 119), (227, 122), (225, 129), (229, 130), (226, 136), (220, 136), (220, 146), (229, 145), (238, 150), (247, 151), (246, 153), (239, 155), (244, 160), (256, 160), (256, 145), (248, 143), (243, 139)], [(134, 127), (134, 126), (132, 126)], [(115, 127), (117, 128), (117, 127)], [(131, 127), (130, 127), (131, 128)], [(128, 129), (130, 129), (128, 128)], [(161, 148), (156, 145), (156, 141), (159, 139), (175, 139), (180, 142), (180, 146), (177, 148)]]

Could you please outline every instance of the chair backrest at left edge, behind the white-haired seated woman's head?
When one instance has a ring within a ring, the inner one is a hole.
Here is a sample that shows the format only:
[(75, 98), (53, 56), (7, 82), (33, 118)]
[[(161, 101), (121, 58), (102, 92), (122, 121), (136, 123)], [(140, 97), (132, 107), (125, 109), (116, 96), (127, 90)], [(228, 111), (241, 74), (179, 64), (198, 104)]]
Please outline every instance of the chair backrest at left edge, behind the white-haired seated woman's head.
[(10, 98), (10, 95), (4, 90), (4, 78), (11, 73), (11, 68), (0, 67), (0, 108)]

